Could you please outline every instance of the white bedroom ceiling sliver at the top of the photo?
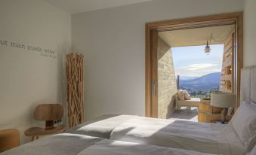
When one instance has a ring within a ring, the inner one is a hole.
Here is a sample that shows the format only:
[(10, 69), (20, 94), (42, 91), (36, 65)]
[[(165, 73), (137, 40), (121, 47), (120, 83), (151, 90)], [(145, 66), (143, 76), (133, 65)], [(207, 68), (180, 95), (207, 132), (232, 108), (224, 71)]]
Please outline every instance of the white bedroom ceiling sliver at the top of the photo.
[(95, 11), (103, 8), (113, 8), (152, 0), (44, 0), (57, 8), (62, 8), (72, 14)]

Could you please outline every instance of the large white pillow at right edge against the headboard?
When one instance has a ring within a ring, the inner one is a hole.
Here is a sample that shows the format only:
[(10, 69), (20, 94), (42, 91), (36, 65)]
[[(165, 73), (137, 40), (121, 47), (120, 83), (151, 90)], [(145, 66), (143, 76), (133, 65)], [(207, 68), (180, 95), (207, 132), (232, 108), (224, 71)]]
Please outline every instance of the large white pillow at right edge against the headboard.
[(251, 150), (256, 140), (256, 105), (242, 103), (230, 123), (247, 150)]

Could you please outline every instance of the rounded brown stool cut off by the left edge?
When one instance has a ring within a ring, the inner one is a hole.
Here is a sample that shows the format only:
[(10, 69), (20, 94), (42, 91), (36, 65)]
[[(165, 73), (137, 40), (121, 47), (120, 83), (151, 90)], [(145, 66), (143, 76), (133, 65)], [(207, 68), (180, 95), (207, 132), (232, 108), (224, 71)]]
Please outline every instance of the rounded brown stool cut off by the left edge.
[(20, 145), (20, 132), (17, 129), (0, 130), (0, 152)]

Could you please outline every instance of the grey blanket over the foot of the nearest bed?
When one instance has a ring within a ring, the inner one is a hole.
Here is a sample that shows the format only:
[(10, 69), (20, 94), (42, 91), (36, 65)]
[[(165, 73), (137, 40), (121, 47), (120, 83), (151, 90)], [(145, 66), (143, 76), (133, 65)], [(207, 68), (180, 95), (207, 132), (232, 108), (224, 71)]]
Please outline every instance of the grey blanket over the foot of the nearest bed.
[(20, 145), (0, 155), (76, 155), (103, 138), (61, 133)]

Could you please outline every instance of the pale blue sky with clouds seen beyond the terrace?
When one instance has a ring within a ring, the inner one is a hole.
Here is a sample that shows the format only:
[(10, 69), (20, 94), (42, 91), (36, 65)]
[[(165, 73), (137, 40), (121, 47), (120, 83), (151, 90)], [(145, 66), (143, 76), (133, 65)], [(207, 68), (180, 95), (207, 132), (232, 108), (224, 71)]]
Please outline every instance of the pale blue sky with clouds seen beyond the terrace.
[(176, 76), (200, 77), (212, 72), (221, 72), (224, 44), (210, 45), (205, 54), (204, 46), (171, 47)]

